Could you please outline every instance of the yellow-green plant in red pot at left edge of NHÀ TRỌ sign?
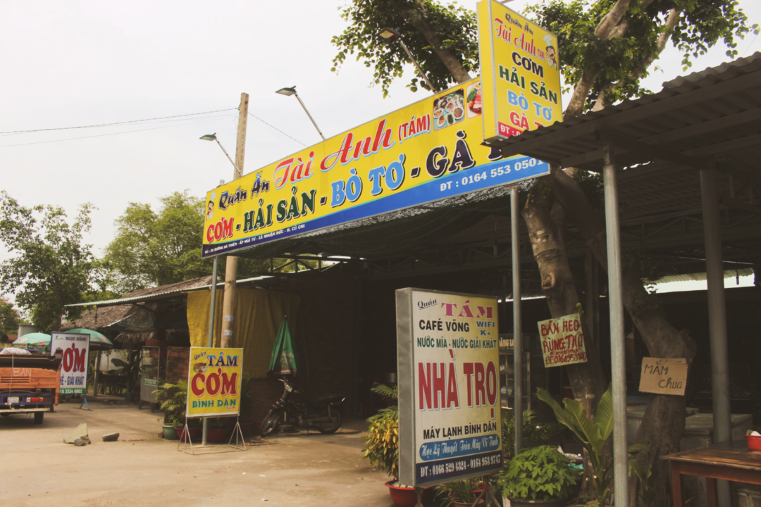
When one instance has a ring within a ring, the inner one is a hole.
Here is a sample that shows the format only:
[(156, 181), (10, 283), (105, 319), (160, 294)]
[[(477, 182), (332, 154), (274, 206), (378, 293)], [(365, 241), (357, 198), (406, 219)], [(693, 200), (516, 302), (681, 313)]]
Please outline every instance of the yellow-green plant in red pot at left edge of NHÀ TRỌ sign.
[[(396, 507), (414, 507), (418, 501), (415, 488), (399, 483), (399, 387), (374, 384), (371, 388), (375, 394), (390, 401), (390, 406), (381, 409), (368, 418), (368, 434), (365, 436), (365, 458), (379, 470), (386, 472), (392, 480), (386, 483), (391, 500)], [(424, 498), (431, 488), (425, 488)]]

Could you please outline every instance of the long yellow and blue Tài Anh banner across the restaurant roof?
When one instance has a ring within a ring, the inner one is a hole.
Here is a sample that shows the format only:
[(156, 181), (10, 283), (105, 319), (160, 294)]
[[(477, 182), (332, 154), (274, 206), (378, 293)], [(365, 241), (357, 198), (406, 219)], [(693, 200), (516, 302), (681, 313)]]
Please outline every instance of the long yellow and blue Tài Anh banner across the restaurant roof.
[(468, 81), (218, 187), (206, 197), (202, 256), (549, 172), (483, 146), (481, 114), (481, 82)]

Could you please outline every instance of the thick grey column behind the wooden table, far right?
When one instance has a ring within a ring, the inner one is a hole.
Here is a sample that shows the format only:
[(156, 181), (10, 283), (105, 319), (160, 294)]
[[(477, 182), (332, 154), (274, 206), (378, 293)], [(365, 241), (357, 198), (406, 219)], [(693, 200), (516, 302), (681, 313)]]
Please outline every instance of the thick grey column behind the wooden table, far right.
[[(724, 300), (724, 265), (721, 256), (721, 218), (718, 210), (716, 169), (700, 171), (705, 271), (708, 275), (708, 329), (711, 339), (711, 386), (714, 442), (732, 439), (729, 404), (729, 357), (727, 351), (727, 304)], [(718, 504), (730, 505), (729, 483), (718, 481)]]

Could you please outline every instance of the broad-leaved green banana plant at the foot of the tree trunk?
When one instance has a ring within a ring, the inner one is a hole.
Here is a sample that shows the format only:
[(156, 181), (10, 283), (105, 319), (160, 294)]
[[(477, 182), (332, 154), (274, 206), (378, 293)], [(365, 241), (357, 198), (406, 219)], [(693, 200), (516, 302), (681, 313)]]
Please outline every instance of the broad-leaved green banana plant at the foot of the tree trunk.
[[(608, 385), (607, 391), (600, 398), (600, 403), (597, 404), (594, 422), (584, 415), (580, 401), (564, 398), (565, 407), (561, 407), (549, 395), (549, 392), (542, 388), (537, 388), (537, 396), (552, 408), (558, 422), (570, 429), (574, 438), (584, 446), (592, 466), (591, 493), (600, 505), (605, 505), (610, 494), (610, 483), (613, 482), (613, 474), (610, 473), (613, 458), (605, 454), (605, 442), (610, 433), (613, 433), (613, 393), (611, 386)], [(634, 444), (629, 446), (629, 453), (640, 452), (645, 449), (645, 445)], [(630, 467), (636, 466), (632, 461), (635, 460), (629, 460)]]

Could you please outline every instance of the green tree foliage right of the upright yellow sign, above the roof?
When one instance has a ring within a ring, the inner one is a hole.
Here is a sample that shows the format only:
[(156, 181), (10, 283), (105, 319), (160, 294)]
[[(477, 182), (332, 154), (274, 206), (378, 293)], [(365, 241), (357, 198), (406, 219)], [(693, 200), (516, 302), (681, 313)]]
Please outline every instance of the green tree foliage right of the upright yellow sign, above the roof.
[(528, 9), (540, 26), (558, 35), (560, 68), (574, 87), (565, 116), (644, 93), (639, 81), (671, 40), (683, 65), (719, 40), (737, 57), (737, 38), (758, 25), (734, 0), (544, 0)]

